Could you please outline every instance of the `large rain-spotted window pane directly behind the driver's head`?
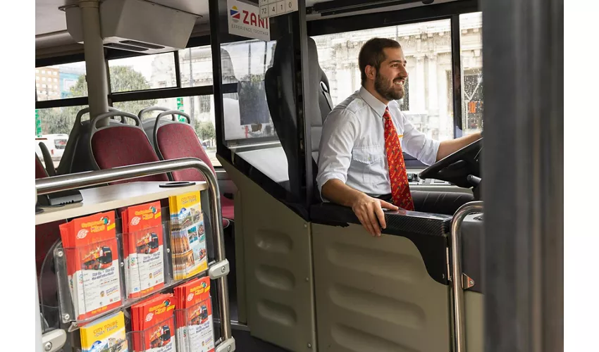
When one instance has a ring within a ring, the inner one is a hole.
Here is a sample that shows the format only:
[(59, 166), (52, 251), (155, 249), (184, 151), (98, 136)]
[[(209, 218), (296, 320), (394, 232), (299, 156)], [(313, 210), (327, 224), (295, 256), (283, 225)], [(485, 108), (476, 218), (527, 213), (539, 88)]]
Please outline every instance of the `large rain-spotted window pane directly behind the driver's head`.
[(319, 63), (337, 105), (360, 87), (358, 54), (373, 37), (395, 39), (407, 61), (406, 94), (399, 103), (417, 130), (433, 139), (453, 138), (451, 23), (436, 20), (314, 37)]

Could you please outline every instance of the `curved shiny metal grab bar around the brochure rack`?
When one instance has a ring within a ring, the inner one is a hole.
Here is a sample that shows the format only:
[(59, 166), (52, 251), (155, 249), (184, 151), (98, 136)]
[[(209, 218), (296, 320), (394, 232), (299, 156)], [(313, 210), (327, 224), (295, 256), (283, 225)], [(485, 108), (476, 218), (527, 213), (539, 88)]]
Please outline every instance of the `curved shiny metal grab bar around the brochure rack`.
[[(223, 235), (223, 216), (221, 213), (221, 194), (218, 190), (218, 182), (212, 170), (198, 158), (180, 158), (168, 161), (155, 161), (137, 165), (121, 166), (118, 168), (78, 172), (75, 174), (47, 177), (35, 180), (37, 194), (49, 194), (68, 189), (95, 186), (107, 182), (131, 180), (137, 177), (158, 175), (174, 170), (194, 168), (204, 175), (208, 183), (210, 197), (211, 221), (216, 230), (216, 263), (225, 260), (225, 239)], [(229, 294), (226, 276), (216, 279), (219, 298), (219, 311), (221, 313), (221, 336), (223, 344), (232, 338), (231, 322), (229, 316)], [(234, 344), (233, 344), (234, 346)], [(217, 348), (218, 350), (218, 348)], [(228, 351), (233, 351), (228, 349)]]

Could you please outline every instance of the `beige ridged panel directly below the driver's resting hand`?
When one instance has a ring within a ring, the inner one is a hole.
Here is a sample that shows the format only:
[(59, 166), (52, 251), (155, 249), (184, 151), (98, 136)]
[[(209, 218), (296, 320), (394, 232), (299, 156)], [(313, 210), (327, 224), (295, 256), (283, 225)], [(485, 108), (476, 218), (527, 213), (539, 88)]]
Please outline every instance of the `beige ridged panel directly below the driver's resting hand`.
[(412, 241), (311, 227), (319, 351), (450, 351), (450, 289)]

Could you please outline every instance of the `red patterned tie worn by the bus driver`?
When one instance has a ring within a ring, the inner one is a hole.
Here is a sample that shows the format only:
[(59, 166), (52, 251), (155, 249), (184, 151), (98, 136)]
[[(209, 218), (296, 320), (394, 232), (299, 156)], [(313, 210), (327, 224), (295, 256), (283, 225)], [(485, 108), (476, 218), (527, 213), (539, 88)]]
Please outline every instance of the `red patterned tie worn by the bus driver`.
[(393, 203), (405, 210), (414, 210), (414, 201), (412, 201), (412, 194), (409, 192), (409, 183), (407, 182), (402, 144), (400, 143), (400, 136), (393, 125), (393, 120), (391, 120), (389, 108), (385, 108), (383, 120), (385, 122), (385, 150), (387, 151)]

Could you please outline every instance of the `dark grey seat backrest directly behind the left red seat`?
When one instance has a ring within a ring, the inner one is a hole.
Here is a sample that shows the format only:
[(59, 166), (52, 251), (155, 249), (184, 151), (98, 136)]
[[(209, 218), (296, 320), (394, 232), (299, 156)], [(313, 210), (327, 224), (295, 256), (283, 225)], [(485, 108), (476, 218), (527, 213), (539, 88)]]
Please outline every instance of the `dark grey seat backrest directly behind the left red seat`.
[[(118, 109), (109, 106), (109, 111), (118, 111)], [(75, 116), (75, 123), (68, 134), (68, 141), (61, 162), (56, 168), (56, 175), (94, 170), (93, 163), (89, 160), (89, 120), (81, 121), (86, 113), (89, 113), (89, 108), (81, 109)], [(111, 125), (120, 123), (116, 120), (109, 122)]]

